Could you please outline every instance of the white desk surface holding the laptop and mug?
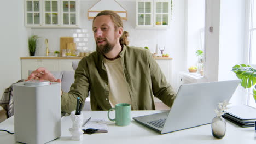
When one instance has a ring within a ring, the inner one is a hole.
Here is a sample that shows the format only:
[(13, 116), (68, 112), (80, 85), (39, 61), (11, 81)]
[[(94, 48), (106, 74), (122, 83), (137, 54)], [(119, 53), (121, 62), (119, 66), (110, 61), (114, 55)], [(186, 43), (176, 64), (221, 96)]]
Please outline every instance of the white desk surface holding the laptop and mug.
[[(149, 113), (160, 111), (132, 111), (131, 115), (141, 116)], [(52, 143), (255, 143), (256, 133), (253, 127), (241, 128), (237, 125), (226, 121), (226, 135), (223, 139), (215, 139), (212, 136), (211, 124), (195, 127), (191, 129), (176, 131), (173, 133), (160, 135), (155, 131), (144, 127), (143, 125), (132, 120), (131, 124), (126, 127), (115, 126), (114, 122), (108, 121), (107, 111), (83, 111), (84, 117), (104, 117), (108, 123), (108, 133), (84, 135), (83, 141), (71, 140), (71, 134), (68, 128), (71, 127), (69, 116), (62, 117), (62, 135), (59, 139), (49, 142)], [(114, 115), (114, 112), (112, 113)], [(112, 115), (112, 116), (113, 116)], [(0, 129), (14, 131), (14, 118), (11, 117), (0, 123)], [(184, 121), (185, 122), (185, 121)], [(17, 143), (14, 135), (0, 131), (0, 143)]]

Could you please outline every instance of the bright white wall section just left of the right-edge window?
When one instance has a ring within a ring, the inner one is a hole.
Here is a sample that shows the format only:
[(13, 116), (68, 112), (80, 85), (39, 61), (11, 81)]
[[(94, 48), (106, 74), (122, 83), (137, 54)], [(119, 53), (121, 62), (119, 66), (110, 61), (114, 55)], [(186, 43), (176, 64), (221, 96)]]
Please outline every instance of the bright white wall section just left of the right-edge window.
[[(218, 80), (237, 79), (231, 71), (236, 64), (245, 63), (245, 22), (246, 1), (220, 1), (220, 29), (219, 29), (219, 70)], [(231, 99), (232, 104), (245, 104), (245, 89), (238, 89)]]

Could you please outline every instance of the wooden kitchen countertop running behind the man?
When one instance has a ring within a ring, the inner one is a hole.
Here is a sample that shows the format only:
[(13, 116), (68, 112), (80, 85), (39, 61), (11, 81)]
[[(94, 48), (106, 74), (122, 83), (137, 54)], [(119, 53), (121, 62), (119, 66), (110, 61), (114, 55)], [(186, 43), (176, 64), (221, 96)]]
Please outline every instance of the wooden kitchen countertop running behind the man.
[[(31, 56), (20, 57), (20, 59), (82, 59), (83, 57), (55, 57), (55, 56)], [(154, 57), (156, 60), (172, 60), (171, 57)]]

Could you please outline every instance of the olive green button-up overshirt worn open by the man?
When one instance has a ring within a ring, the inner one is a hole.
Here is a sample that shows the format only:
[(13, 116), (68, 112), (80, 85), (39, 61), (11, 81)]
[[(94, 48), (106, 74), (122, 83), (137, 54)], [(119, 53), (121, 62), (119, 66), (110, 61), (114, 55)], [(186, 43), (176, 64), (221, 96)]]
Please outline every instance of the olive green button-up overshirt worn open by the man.
[[(124, 45), (119, 55), (125, 80), (128, 83), (133, 110), (155, 110), (154, 96), (169, 107), (172, 106), (176, 93), (167, 83), (149, 50)], [(70, 113), (75, 110), (77, 97), (80, 97), (84, 104), (89, 91), (92, 110), (111, 108), (104, 57), (97, 52), (91, 53), (79, 62), (70, 91), (62, 94), (62, 111)]]

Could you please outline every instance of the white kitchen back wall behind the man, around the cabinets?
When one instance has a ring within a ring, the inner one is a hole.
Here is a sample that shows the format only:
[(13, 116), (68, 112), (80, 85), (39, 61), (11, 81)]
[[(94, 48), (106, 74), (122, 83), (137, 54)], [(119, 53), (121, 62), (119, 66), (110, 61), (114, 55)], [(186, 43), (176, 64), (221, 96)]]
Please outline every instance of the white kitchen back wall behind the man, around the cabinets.
[[(92, 35), (92, 20), (87, 19), (87, 11), (97, 0), (80, 1), (80, 26), (88, 29), (88, 49), (95, 50), (96, 45)], [(123, 21), (124, 30), (129, 32), (130, 46), (148, 46), (151, 52), (155, 52), (156, 44), (166, 44), (166, 52), (173, 58), (172, 74), (174, 88), (176, 85), (178, 72), (184, 70), (184, 0), (173, 0), (173, 12), (170, 28), (166, 30), (139, 30), (135, 29), (136, 0), (118, 0), (119, 4), (127, 10), (127, 21)], [(39, 35), (39, 46), (36, 55), (45, 55), (44, 39), (49, 40), (51, 52), (60, 49), (60, 37), (72, 36), (74, 29), (32, 29), (32, 34)]]

